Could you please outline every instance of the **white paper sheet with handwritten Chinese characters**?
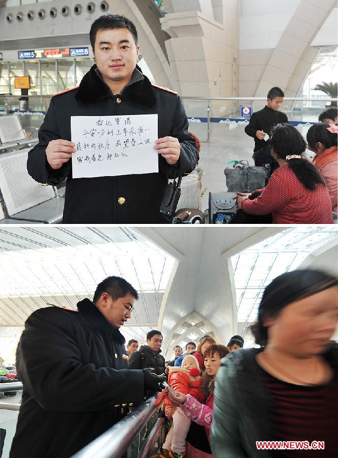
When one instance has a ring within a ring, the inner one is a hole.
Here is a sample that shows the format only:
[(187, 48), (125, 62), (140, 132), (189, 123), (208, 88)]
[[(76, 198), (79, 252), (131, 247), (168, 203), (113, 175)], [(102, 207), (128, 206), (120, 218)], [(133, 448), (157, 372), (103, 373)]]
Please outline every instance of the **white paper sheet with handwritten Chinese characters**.
[(73, 178), (158, 172), (157, 115), (72, 116)]

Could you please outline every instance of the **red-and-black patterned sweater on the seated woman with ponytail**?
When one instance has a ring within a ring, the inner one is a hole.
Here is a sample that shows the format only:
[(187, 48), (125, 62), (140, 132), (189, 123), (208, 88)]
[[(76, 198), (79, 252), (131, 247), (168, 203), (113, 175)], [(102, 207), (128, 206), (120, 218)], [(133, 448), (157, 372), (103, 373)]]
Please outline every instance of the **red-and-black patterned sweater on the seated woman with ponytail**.
[(260, 196), (245, 199), (242, 209), (250, 215), (272, 212), (274, 224), (333, 223), (327, 187), (318, 184), (314, 191), (305, 188), (288, 164), (273, 172)]

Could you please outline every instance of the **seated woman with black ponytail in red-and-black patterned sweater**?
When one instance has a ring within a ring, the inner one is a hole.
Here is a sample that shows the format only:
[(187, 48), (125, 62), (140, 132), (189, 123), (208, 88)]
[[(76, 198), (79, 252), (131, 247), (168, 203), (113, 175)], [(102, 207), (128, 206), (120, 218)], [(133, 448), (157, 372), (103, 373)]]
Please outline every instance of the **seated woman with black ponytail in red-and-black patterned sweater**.
[(277, 124), (270, 144), (279, 168), (255, 199), (249, 199), (250, 193), (238, 193), (237, 208), (251, 215), (271, 212), (275, 224), (332, 224), (328, 188), (318, 169), (301, 158), (306, 144), (300, 132), (291, 124)]

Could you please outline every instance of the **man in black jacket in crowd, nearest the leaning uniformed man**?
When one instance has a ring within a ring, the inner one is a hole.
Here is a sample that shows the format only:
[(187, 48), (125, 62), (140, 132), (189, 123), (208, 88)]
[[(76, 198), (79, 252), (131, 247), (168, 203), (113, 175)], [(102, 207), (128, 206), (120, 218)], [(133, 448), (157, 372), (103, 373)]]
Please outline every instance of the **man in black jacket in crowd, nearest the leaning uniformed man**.
[(147, 345), (143, 345), (138, 351), (129, 356), (128, 369), (150, 368), (152, 373), (164, 374), (165, 361), (161, 353), (162, 334), (160, 331), (153, 330), (147, 334)]

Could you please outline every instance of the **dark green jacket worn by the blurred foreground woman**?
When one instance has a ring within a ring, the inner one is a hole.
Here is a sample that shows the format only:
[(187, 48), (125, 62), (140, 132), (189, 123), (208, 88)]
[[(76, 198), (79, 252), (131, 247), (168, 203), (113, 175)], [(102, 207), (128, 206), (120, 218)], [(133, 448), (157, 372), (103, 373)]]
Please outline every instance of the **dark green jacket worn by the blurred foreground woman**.
[[(271, 402), (264, 390), (262, 369), (255, 359), (263, 350), (240, 349), (221, 360), (210, 434), (213, 458), (273, 456), (273, 451), (256, 448), (256, 441), (275, 440)], [(324, 357), (336, 367), (338, 346), (331, 347)]]

